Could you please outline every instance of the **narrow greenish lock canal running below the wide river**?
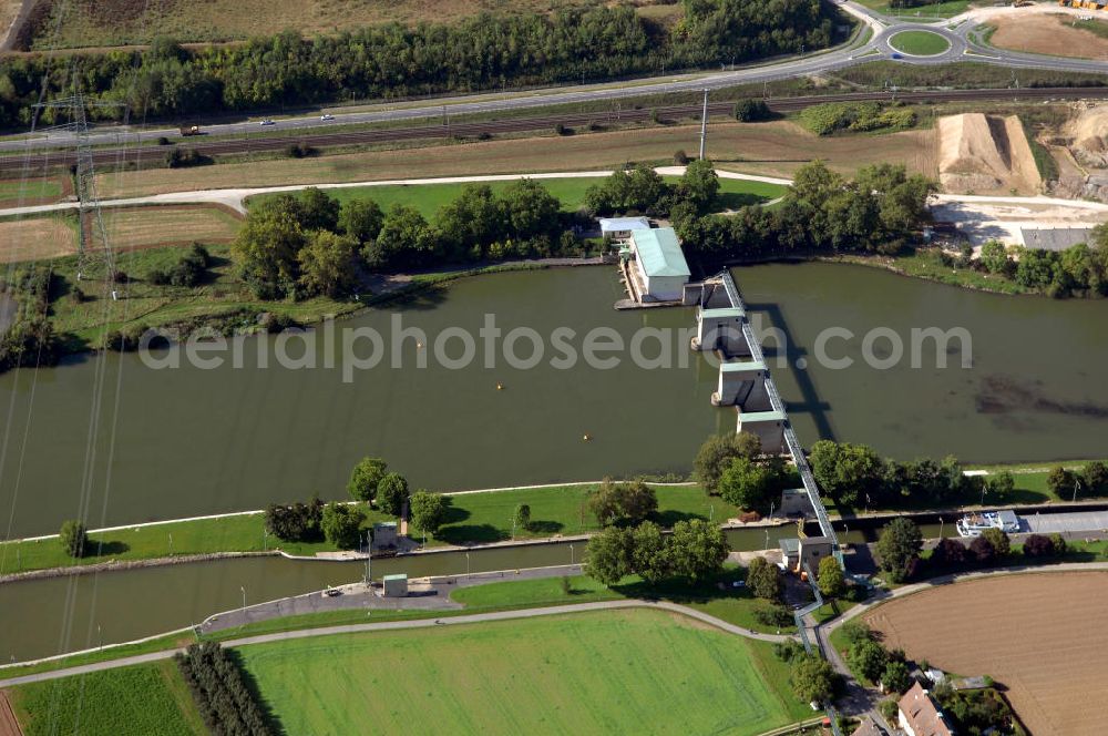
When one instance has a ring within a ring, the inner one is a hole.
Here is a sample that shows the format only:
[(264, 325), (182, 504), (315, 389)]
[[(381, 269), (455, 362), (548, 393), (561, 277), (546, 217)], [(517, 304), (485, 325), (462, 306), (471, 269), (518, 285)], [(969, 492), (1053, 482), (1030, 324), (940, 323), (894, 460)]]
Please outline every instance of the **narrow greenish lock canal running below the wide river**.
[[(938, 535), (938, 524), (922, 527)], [(735, 550), (777, 546), (782, 536), (796, 536), (789, 524), (766, 529), (729, 530)], [(945, 533), (953, 533), (946, 524)], [(870, 541), (873, 534), (850, 532), (844, 539)], [(373, 561), (373, 579), (391, 573), (409, 577), (516, 570), (581, 562), (584, 542), (533, 544), (511, 549), (410, 555)], [(125, 572), (51, 577), (0, 585), (0, 661), (22, 661), (73, 652), (202, 622), (213, 613), (247, 603), (261, 603), (327, 585), (362, 580), (363, 562), (312, 562), (284, 558), (239, 558), (145, 568)]]

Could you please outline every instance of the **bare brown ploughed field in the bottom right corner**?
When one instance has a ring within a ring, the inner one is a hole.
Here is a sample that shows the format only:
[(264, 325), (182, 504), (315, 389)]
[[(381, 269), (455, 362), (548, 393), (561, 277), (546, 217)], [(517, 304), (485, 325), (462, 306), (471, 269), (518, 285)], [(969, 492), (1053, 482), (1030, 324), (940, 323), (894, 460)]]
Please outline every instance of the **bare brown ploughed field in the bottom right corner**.
[(1008, 688), (1033, 734), (1105, 733), (1108, 573), (1004, 575), (943, 585), (866, 616), (890, 648)]

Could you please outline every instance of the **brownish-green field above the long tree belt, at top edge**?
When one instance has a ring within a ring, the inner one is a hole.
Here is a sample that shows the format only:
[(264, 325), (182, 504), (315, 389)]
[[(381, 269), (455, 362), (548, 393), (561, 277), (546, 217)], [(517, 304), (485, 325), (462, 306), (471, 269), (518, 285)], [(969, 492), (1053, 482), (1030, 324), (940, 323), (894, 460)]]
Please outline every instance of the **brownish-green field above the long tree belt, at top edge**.
[[(0, 2), (8, 0), (0, 0)], [(179, 41), (225, 41), (278, 33), (293, 28), (305, 35), (337, 33), (362, 25), (400, 22), (452, 22), (480, 12), (548, 12), (555, 8), (601, 4), (601, 0), (53, 0), (66, 7), (60, 37), (43, 24), (39, 47), (111, 47), (147, 43), (154, 34)], [(637, 3), (653, 4), (650, 0)], [(143, 8), (146, 14), (143, 16)], [(48, 32), (48, 29), (50, 32)]]

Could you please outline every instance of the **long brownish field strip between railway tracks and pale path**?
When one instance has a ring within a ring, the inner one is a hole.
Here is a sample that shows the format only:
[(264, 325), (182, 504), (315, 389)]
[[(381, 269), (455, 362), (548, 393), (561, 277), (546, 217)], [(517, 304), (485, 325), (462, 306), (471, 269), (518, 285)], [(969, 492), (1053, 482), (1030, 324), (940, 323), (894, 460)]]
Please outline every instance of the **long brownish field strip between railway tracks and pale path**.
[[(109, 198), (233, 186), (587, 171), (629, 161), (669, 164), (678, 149), (696, 152), (699, 134), (696, 125), (674, 125), (185, 170), (151, 168), (101, 174), (96, 186), (100, 196)], [(789, 176), (802, 163), (820, 157), (844, 172), (869, 163), (896, 161), (929, 176), (938, 173), (934, 131), (821, 139), (790, 122), (778, 121), (712, 124), (708, 135), (709, 154), (720, 168), (729, 171)]]

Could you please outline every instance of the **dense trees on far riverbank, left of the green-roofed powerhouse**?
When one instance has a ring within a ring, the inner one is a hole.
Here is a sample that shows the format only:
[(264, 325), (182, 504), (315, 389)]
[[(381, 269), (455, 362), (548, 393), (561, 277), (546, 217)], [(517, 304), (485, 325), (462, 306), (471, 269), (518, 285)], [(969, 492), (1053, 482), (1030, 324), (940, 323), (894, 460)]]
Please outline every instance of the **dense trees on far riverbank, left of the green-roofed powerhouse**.
[(433, 222), (397, 203), (340, 205), (316, 187), (252, 208), (234, 242), (239, 275), (263, 299), (339, 297), (359, 270), (396, 272), (441, 262), (551, 256), (577, 247), (562, 204), (541, 184), (520, 180), (493, 193), (466, 185)]

